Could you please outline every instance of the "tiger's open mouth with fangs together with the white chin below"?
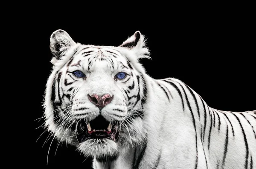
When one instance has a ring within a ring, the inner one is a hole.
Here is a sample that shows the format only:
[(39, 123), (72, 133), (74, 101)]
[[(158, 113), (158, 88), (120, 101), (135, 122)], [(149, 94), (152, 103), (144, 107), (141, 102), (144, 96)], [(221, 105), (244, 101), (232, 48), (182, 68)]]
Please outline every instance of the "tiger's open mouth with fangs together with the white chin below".
[(92, 121), (81, 121), (77, 145), (85, 156), (94, 156), (99, 161), (113, 159), (118, 152), (118, 123), (111, 123), (101, 115)]

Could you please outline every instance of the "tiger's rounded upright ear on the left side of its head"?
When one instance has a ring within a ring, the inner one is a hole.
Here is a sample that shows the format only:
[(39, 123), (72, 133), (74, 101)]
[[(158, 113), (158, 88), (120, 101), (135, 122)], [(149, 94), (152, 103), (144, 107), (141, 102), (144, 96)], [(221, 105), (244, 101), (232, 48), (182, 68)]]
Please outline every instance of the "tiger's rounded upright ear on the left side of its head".
[(50, 37), (50, 50), (56, 59), (64, 56), (65, 52), (73, 45), (76, 45), (76, 42), (73, 41), (66, 31), (61, 29), (53, 32)]

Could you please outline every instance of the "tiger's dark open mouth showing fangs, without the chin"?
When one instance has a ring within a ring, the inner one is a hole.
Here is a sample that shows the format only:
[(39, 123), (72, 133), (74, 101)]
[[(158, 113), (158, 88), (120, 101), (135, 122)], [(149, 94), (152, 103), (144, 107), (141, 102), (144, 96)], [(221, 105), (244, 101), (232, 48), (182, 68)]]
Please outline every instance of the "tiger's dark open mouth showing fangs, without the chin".
[(108, 138), (116, 142), (119, 135), (116, 124), (107, 121), (102, 115), (89, 122), (81, 120), (78, 128), (80, 143), (90, 138)]

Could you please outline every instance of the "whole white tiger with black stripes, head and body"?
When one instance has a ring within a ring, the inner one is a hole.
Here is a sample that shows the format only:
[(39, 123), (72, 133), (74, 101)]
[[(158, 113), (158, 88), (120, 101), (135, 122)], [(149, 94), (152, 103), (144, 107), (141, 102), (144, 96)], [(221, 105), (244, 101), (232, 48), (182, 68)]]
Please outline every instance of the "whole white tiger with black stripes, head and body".
[[(93, 156), (93, 168), (256, 169), (256, 110), (215, 110), (180, 80), (148, 76), (140, 32), (119, 47), (81, 45), (62, 30), (50, 42), (45, 126)], [(110, 134), (93, 131), (106, 121)]]

